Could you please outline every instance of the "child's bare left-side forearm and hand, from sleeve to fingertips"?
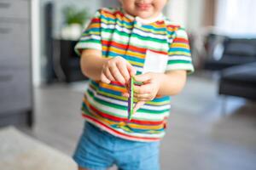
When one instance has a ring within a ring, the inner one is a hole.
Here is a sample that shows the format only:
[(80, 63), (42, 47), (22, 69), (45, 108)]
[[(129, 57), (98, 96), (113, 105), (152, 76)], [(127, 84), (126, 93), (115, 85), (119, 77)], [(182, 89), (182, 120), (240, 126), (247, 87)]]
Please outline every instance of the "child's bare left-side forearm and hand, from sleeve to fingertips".
[(84, 49), (80, 65), (84, 76), (105, 83), (116, 81), (125, 84), (129, 81), (130, 75), (136, 74), (135, 69), (125, 59), (103, 58), (102, 52), (96, 49)]

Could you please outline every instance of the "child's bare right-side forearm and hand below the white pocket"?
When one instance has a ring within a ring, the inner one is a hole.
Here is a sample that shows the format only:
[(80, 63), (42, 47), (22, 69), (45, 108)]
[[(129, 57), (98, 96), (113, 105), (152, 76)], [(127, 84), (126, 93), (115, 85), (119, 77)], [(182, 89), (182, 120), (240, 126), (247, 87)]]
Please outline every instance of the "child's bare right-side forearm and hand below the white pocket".
[[(146, 101), (154, 99), (157, 95), (179, 94), (186, 82), (187, 71), (168, 71), (164, 73), (148, 72), (135, 76), (137, 82), (144, 82), (141, 86), (135, 86), (134, 97), (138, 102), (134, 108), (136, 112)], [(124, 94), (127, 96), (127, 94)]]

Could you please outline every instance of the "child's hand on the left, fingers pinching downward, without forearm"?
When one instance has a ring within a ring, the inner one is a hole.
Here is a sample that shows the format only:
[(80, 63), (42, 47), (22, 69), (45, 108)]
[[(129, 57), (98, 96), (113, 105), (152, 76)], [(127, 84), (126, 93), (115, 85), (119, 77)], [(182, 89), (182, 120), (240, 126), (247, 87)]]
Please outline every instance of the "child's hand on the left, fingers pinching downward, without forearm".
[(120, 82), (127, 84), (131, 76), (136, 75), (135, 68), (124, 58), (108, 59), (102, 66), (101, 81), (105, 83)]

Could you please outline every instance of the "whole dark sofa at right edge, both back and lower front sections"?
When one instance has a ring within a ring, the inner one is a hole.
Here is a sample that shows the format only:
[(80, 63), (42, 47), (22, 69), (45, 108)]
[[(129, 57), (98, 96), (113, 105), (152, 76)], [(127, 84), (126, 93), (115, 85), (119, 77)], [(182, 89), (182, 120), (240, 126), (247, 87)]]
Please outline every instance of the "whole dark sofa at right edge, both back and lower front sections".
[(256, 38), (207, 37), (204, 69), (218, 71), (218, 94), (256, 100)]

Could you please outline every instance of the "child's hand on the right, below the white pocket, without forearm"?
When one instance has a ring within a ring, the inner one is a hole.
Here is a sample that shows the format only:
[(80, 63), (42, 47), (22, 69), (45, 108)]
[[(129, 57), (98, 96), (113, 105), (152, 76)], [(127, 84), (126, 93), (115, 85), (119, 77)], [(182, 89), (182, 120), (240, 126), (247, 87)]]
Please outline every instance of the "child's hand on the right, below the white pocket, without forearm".
[[(143, 106), (147, 101), (156, 97), (160, 89), (160, 73), (148, 72), (143, 75), (134, 76), (136, 82), (143, 82), (143, 85), (134, 86), (134, 98), (137, 104), (134, 107), (134, 113)], [(129, 96), (129, 94), (124, 94)]]

